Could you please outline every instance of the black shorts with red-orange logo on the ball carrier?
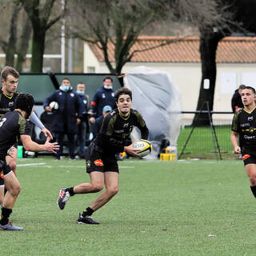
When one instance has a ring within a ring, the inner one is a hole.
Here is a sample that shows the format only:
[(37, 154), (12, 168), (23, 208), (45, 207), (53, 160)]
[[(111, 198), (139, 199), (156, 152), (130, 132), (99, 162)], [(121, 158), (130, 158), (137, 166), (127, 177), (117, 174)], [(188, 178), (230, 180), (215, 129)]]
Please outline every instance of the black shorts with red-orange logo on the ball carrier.
[(119, 173), (118, 161), (114, 154), (102, 154), (96, 148), (94, 142), (91, 142), (86, 150), (86, 172), (88, 174), (92, 171)]

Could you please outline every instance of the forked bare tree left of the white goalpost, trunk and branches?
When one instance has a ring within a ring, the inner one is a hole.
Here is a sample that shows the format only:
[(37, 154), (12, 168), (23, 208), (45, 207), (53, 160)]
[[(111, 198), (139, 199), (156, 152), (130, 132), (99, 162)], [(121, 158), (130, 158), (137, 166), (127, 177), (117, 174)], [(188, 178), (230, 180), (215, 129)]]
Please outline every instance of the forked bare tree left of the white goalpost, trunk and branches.
[[(33, 29), (32, 39), (32, 59), (31, 72), (42, 72), (43, 54), (45, 50), (46, 32), (65, 14), (66, 0), (64, 0), (64, 9), (59, 10), (59, 14), (51, 17), (54, 10), (54, 3), (58, 0), (14, 0), (21, 2), (26, 10)], [(59, 3), (59, 2), (58, 2)], [(59, 4), (59, 6), (61, 6)], [(59, 8), (61, 9), (61, 8)]]

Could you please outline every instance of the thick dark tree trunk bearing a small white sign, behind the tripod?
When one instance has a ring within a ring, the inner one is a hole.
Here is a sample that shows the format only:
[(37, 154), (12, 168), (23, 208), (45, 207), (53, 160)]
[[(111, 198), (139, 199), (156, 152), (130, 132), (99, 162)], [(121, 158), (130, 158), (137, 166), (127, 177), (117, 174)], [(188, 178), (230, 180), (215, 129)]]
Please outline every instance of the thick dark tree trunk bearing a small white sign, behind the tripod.
[[(222, 34), (207, 33), (200, 36), (200, 54), (202, 63), (202, 80), (198, 97), (197, 110), (207, 110), (206, 102), (209, 102), (210, 110), (214, 107), (214, 91), (216, 81), (216, 51), (218, 42), (223, 38)], [(204, 89), (204, 80), (210, 80), (210, 88)], [(198, 118), (195, 123), (195, 119)], [(193, 125), (209, 125), (208, 114), (195, 114)]]

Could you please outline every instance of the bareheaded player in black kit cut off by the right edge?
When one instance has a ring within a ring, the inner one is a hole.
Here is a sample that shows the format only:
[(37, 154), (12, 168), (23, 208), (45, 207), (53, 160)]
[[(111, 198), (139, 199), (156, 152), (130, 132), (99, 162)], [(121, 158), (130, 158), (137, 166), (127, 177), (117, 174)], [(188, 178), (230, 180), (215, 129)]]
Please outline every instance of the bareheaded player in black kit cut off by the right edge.
[[(244, 108), (234, 114), (232, 122), (231, 142), (234, 154), (242, 154), (246, 174), (250, 180), (250, 190), (256, 198), (256, 105), (255, 90), (245, 86), (242, 89)], [(238, 139), (240, 146), (238, 145)]]

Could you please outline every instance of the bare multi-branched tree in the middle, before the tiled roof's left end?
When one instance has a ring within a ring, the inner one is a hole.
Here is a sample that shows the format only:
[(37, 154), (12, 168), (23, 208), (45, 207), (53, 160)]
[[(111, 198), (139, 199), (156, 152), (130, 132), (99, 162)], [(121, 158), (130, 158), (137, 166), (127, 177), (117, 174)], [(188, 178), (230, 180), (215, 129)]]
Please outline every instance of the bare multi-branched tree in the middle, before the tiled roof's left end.
[[(131, 46), (138, 35), (160, 17), (161, 8), (161, 2), (153, 0), (74, 0), (70, 2), (70, 36), (95, 44), (110, 72), (119, 74), (135, 54)], [(115, 66), (110, 61), (110, 44), (114, 44)]]

